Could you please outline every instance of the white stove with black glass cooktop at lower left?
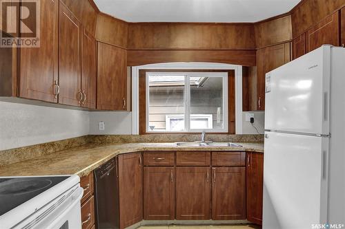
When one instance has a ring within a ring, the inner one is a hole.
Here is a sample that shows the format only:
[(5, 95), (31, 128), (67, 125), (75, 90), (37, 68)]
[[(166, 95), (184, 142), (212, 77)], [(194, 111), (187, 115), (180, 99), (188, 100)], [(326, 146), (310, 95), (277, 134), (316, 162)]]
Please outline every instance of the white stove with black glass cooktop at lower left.
[(81, 228), (77, 175), (0, 177), (0, 228)]

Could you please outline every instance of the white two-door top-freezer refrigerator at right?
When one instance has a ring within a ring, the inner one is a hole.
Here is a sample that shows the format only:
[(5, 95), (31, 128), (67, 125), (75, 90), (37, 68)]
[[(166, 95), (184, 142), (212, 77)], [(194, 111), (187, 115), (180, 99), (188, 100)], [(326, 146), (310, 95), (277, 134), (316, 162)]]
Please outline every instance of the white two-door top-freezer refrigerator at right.
[(263, 228), (345, 228), (345, 48), (268, 72), (265, 103)]

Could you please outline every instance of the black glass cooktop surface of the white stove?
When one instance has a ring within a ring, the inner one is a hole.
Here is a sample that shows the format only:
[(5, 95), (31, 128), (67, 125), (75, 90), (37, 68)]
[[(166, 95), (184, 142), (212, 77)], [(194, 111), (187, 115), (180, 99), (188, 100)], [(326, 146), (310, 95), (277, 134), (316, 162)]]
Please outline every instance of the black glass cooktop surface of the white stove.
[(52, 188), (68, 177), (0, 178), (0, 215)]

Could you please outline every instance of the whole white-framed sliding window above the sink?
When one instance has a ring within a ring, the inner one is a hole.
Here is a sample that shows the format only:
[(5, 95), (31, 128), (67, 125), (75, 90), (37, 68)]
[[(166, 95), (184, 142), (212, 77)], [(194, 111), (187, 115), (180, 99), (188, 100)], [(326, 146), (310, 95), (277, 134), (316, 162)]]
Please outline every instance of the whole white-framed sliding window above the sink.
[(227, 72), (146, 72), (146, 132), (228, 132)]

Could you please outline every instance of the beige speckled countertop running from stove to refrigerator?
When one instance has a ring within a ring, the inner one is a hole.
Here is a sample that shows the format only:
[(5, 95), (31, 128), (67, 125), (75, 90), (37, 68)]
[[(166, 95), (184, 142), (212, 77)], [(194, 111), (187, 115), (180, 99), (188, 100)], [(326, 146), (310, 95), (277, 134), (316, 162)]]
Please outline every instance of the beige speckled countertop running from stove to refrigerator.
[(121, 153), (138, 151), (255, 151), (264, 153), (263, 142), (237, 142), (243, 147), (176, 146), (175, 143), (86, 144), (42, 155), (31, 160), (0, 166), (0, 177), (27, 175), (88, 175)]

